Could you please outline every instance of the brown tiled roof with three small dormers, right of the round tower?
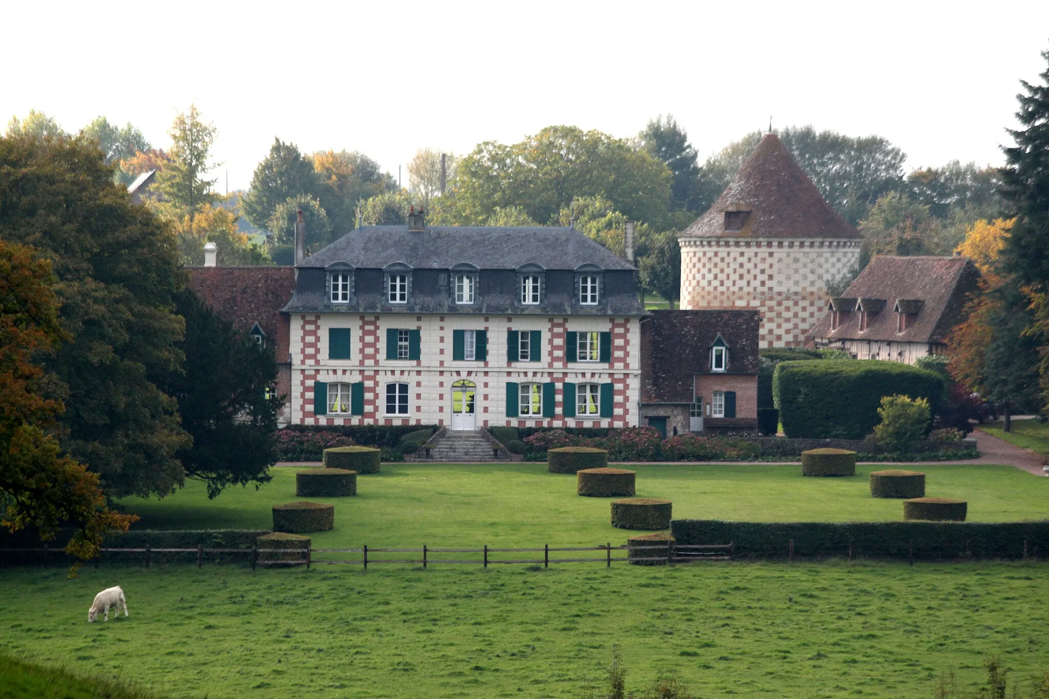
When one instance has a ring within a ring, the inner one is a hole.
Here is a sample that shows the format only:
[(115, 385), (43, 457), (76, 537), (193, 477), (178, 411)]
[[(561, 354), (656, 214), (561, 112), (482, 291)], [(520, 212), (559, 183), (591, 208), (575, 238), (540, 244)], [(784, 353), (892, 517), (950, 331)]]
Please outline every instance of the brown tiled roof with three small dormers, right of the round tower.
[[(831, 330), (827, 313), (813, 326), (810, 336), (942, 343), (961, 322), (962, 307), (979, 279), (979, 270), (967, 258), (878, 256), (841, 298), (831, 300), (838, 311), (837, 329)], [(868, 325), (860, 331), (859, 314), (864, 309)], [(897, 309), (911, 316), (903, 332), (897, 332)]]

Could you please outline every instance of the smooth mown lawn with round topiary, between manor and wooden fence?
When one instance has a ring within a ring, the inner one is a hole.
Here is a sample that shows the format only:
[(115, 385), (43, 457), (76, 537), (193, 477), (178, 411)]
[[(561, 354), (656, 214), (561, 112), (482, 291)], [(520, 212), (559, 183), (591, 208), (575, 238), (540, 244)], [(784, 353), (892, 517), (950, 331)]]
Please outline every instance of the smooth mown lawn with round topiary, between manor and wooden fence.
[[(868, 474), (802, 478), (798, 465), (631, 466), (638, 496), (673, 501), (675, 518), (755, 522), (902, 519), (899, 500), (872, 498)], [(921, 466), (929, 496), (963, 498), (968, 519), (1041, 520), (1049, 514), (1049, 479), (1011, 466)], [(272, 506), (297, 500), (295, 468), (274, 468), (256, 490), (233, 487), (208, 500), (200, 483), (163, 500), (129, 498), (142, 516), (136, 528), (257, 528), (272, 526)], [(314, 546), (542, 546), (623, 543), (608, 524), (608, 499), (575, 494), (575, 476), (547, 473), (543, 463), (497, 465), (384, 463), (358, 477), (359, 495), (314, 498), (336, 504), (335, 530), (313, 534)]]

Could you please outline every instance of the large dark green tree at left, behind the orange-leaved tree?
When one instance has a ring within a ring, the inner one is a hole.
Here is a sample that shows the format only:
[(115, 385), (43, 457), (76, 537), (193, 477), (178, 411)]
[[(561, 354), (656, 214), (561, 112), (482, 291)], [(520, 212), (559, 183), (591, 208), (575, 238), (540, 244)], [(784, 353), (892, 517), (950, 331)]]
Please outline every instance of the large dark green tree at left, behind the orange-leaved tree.
[(66, 406), (62, 446), (107, 495), (167, 494), (189, 445), (157, 388), (181, 362), (172, 298), (184, 277), (174, 235), (112, 180), (83, 136), (0, 138), (0, 239), (51, 261), (70, 336), (45, 363)]

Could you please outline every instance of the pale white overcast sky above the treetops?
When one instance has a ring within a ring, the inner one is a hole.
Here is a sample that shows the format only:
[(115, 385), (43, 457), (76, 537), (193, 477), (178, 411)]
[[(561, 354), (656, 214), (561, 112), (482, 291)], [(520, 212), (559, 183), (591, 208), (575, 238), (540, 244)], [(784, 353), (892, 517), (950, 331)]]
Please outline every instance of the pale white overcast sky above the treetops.
[[(274, 136), (397, 175), (552, 124), (631, 136), (661, 113), (701, 160), (748, 131), (879, 134), (907, 167), (1001, 163), (1049, 2), (5, 3), (0, 117), (99, 114), (167, 148), (190, 103), (218, 127), (218, 189)], [(407, 173), (405, 173), (407, 183)]]

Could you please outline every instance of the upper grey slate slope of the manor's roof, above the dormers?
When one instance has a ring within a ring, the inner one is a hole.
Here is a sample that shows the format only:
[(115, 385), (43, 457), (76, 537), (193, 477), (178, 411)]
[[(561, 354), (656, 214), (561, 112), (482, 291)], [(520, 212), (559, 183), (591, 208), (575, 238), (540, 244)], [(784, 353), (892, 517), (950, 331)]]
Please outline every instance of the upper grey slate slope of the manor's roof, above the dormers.
[(300, 267), (349, 264), (383, 269), (398, 262), (414, 269), (450, 269), (471, 264), (478, 269), (517, 269), (535, 264), (544, 269), (634, 269), (625, 260), (575, 228), (429, 225), (366, 225), (347, 233)]

